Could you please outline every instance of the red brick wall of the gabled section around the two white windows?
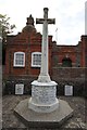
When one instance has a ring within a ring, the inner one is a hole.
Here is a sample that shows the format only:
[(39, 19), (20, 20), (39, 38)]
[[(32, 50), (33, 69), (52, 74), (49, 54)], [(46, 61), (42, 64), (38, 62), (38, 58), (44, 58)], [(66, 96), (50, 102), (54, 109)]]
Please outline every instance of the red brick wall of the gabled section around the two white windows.
[[(41, 35), (40, 34), (18, 34), (15, 37), (8, 37), (5, 75), (35, 75), (38, 76), (40, 68), (32, 67), (32, 53), (41, 52)], [(51, 70), (51, 48), (52, 37), (49, 37), (49, 69)], [(25, 67), (14, 67), (14, 52), (25, 52)], [(51, 74), (51, 73), (50, 73)]]

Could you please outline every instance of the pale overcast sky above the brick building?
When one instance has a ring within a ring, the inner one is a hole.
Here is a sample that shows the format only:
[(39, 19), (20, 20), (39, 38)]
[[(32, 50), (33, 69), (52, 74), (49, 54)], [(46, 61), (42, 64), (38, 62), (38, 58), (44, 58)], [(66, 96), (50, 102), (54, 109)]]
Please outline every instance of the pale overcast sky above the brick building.
[[(14, 32), (22, 31), (26, 17), (30, 14), (44, 17), (44, 8), (49, 8), (48, 17), (55, 18), (55, 25), (49, 25), (49, 35), (58, 44), (77, 44), (85, 34), (86, 0), (0, 0), (0, 13), (11, 17), (10, 23), (16, 25)], [(42, 31), (42, 25), (36, 25)], [(58, 31), (55, 31), (58, 28)]]

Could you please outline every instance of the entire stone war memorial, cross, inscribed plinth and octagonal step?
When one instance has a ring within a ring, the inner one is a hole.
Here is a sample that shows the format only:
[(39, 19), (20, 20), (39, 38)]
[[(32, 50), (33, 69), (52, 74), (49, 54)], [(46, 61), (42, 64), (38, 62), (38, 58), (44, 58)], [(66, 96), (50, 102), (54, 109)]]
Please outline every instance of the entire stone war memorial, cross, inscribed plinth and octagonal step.
[(48, 8), (44, 9), (44, 18), (36, 18), (36, 24), (42, 24), (40, 74), (32, 82), (32, 98), (21, 101), (14, 108), (28, 127), (58, 128), (73, 115), (67, 102), (57, 99), (59, 84), (50, 79), (48, 73), (48, 24), (54, 23), (54, 18), (48, 18)]

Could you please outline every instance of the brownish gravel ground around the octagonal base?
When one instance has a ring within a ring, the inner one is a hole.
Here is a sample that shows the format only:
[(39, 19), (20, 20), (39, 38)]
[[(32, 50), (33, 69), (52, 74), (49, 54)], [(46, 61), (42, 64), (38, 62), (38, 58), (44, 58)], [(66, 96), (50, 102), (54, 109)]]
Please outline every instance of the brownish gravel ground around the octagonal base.
[[(2, 128), (3, 130), (7, 130), (7, 128), (10, 130), (13, 130), (13, 128), (16, 128), (16, 130), (25, 130), (27, 127), (14, 115), (14, 108), (15, 106), (24, 99), (29, 98), (29, 95), (4, 95), (2, 98)], [(74, 109), (73, 117), (66, 120), (65, 123), (63, 123), (60, 128), (61, 129), (87, 129), (86, 123), (86, 100), (84, 98), (79, 96), (60, 96), (61, 100), (66, 101), (70, 106)], [(28, 128), (28, 130), (35, 130), (32, 128)], [(40, 128), (38, 130), (41, 130)], [(46, 129), (44, 129), (46, 130)], [(50, 129), (51, 130), (51, 129)], [(57, 129), (54, 129), (57, 130)], [(59, 128), (58, 128), (59, 130)]]

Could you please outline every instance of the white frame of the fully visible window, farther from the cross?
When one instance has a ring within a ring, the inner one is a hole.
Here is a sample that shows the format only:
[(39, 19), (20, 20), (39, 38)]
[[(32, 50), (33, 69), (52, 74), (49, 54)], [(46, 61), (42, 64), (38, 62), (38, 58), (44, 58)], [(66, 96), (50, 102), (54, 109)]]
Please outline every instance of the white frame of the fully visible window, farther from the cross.
[[(23, 64), (16, 64), (16, 63), (15, 63), (16, 54), (23, 54), (23, 55), (24, 55)], [(14, 52), (13, 66), (14, 66), (14, 67), (25, 67), (25, 52)]]

